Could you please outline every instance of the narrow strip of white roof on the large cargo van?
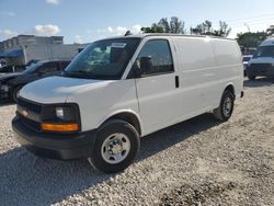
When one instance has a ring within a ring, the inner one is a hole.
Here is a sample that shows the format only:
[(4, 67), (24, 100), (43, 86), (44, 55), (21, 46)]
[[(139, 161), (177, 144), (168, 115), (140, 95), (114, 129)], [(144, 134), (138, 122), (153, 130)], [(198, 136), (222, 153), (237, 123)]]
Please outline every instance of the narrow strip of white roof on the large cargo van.
[(230, 39), (236, 41), (233, 38), (225, 38), (219, 36), (210, 36), (210, 35), (185, 35), (185, 34), (170, 34), (170, 33), (145, 33), (145, 34), (132, 34), (127, 36), (113, 36), (110, 38), (145, 38), (147, 36), (182, 36), (182, 37), (209, 37), (209, 38), (219, 38), (219, 39)]

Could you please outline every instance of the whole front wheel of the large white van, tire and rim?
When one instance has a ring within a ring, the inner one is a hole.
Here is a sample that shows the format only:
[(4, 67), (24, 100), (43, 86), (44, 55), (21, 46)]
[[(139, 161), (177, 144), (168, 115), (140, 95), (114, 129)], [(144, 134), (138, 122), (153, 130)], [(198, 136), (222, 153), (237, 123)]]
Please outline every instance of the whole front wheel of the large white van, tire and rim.
[(99, 129), (89, 162), (105, 173), (125, 170), (135, 160), (140, 147), (139, 135), (124, 121), (111, 121)]

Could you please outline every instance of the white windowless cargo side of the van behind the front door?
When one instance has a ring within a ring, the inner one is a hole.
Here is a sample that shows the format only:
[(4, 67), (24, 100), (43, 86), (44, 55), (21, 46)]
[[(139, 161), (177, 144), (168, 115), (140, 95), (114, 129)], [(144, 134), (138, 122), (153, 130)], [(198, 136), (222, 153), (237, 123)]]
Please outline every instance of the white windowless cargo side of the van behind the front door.
[[(212, 111), (219, 105), (226, 87), (236, 95), (242, 91), (242, 62), (236, 41), (209, 37), (174, 37), (180, 68), (184, 118)], [(193, 112), (194, 111), (194, 112)]]

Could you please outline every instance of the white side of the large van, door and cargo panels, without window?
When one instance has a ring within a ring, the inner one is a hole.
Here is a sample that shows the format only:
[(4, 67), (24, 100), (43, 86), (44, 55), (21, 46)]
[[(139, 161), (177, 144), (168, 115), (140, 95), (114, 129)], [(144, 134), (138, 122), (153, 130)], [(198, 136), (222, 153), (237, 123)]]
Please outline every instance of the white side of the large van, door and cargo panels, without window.
[(136, 79), (144, 135), (218, 107), (228, 85), (236, 96), (243, 90), (241, 55), (235, 41), (184, 36), (171, 37), (170, 45), (180, 88), (174, 88), (172, 73)]

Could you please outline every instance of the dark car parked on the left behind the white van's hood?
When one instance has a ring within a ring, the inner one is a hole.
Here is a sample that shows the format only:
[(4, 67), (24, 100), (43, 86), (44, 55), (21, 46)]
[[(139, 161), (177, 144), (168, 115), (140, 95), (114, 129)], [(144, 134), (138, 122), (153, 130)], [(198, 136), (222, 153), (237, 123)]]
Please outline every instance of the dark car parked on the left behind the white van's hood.
[(25, 84), (49, 76), (60, 75), (70, 60), (39, 61), (23, 72), (0, 76), (0, 100), (18, 100), (18, 93)]

